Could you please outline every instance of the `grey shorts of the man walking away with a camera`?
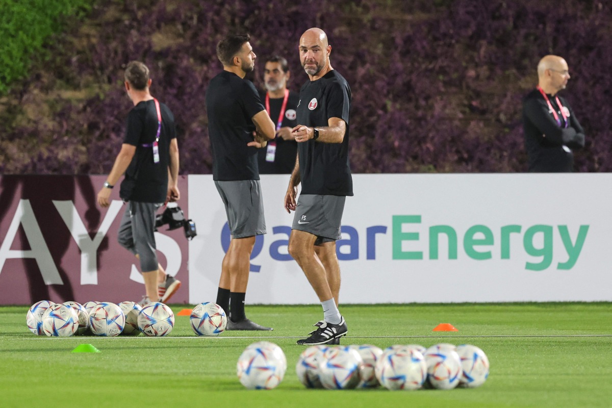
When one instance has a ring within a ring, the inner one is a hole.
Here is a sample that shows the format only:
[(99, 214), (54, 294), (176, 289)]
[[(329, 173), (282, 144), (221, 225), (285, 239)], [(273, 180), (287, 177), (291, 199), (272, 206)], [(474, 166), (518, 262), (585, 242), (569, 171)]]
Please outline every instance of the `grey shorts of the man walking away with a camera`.
[(157, 270), (155, 246), (155, 212), (162, 204), (155, 202), (127, 202), (119, 225), (118, 241), (122, 247), (137, 254), (140, 272)]

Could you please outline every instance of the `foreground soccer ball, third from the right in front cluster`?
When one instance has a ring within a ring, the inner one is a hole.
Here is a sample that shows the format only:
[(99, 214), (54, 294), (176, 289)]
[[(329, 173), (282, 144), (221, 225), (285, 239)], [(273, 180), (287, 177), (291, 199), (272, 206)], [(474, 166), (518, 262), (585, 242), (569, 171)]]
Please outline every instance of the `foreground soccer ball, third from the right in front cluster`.
[(427, 378), (425, 357), (417, 349), (407, 347), (384, 352), (375, 371), (387, 390), (417, 390)]

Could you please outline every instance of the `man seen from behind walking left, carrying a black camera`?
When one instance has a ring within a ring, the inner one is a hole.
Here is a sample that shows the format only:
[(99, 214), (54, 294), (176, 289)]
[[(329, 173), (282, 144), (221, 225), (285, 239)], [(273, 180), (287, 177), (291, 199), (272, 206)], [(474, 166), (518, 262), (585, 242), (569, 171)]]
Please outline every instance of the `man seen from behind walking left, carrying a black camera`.
[[(181, 198), (178, 188), (179, 147), (174, 116), (168, 106), (151, 96), (149, 69), (132, 61), (125, 68), (125, 91), (134, 107), (127, 116), (124, 142), (98, 204), (110, 205), (111, 189), (125, 173), (119, 196), (127, 208), (119, 226), (119, 243), (140, 259), (146, 295), (140, 305), (165, 302), (181, 286), (166, 275), (155, 252), (155, 212)], [(163, 294), (162, 294), (162, 289)]]

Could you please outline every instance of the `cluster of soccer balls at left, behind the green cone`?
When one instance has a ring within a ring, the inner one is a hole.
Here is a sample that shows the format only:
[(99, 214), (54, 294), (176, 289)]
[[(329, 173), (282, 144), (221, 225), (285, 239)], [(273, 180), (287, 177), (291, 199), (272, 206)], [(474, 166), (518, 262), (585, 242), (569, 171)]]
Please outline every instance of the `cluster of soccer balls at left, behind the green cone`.
[(28, 328), (35, 335), (69, 337), (79, 335), (165, 336), (174, 327), (174, 313), (163, 303), (144, 307), (135, 302), (34, 303), (26, 315)]

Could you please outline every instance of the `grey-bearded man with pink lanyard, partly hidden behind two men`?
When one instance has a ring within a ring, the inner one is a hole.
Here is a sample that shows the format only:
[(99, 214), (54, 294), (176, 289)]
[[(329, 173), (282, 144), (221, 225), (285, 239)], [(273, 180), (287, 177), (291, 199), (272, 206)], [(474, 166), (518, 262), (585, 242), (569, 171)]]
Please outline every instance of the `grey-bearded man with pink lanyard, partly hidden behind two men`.
[(259, 174), (291, 174), (296, 165), (297, 143), (291, 130), (297, 124), (299, 95), (287, 89), (289, 76), (291, 73), (285, 58), (273, 56), (266, 61), (266, 92), (259, 92), (259, 97), (265, 101), (266, 111), (275, 121), (276, 138), (269, 141), (265, 149), (259, 149)]

